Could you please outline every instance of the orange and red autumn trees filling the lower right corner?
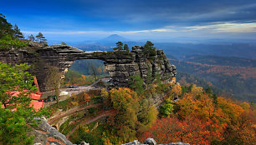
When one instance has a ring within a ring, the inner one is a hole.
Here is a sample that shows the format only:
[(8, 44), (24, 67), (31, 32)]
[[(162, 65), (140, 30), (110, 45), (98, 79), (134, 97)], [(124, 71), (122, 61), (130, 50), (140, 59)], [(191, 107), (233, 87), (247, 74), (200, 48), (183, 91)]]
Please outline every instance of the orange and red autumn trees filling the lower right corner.
[(254, 114), (248, 102), (216, 97), (193, 85), (174, 104), (171, 117), (158, 119), (139, 139), (154, 138), (157, 143), (253, 144)]

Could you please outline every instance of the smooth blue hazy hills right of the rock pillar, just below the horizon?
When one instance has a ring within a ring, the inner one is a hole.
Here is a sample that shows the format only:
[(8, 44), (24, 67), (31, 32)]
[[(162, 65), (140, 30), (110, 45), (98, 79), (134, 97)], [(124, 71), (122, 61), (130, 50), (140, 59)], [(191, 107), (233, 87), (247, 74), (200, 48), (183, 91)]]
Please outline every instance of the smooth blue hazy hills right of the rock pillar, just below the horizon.
[(193, 44), (156, 42), (155, 46), (163, 49), (166, 55), (173, 55), (179, 59), (185, 59), (188, 56), (198, 54), (256, 59), (256, 45), (246, 43)]

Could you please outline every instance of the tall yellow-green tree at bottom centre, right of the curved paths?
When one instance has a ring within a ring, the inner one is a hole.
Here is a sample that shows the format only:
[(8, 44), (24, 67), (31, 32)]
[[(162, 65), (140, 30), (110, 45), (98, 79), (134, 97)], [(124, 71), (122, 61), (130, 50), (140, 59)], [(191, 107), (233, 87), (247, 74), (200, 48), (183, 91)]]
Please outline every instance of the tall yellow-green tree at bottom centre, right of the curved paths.
[[(132, 139), (136, 139), (136, 122), (138, 112), (138, 98), (136, 92), (130, 88), (117, 87), (112, 88), (110, 92), (105, 89), (101, 90), (101, 96), (105, 99), (110, 99), (116, 111), (114, 116), (107, 119), (108, 129), (115, 133), (108, 133), (110, 140), (117, 140), (116, 144), (120, 141), (127, 143)], [(106, 140), (107, 141), (107, 140)]]

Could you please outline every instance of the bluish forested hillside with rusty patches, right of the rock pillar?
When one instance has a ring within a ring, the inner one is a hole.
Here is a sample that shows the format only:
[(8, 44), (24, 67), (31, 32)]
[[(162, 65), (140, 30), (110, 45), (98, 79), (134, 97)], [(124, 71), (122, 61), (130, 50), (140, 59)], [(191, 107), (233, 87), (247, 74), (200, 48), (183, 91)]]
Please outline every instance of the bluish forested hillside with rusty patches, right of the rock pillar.
[(197, 56), (190, 57), (187, 61), (191, 62), (171, 60), (177, 66), (178, 74), (182, 75), (185, 72), (203, 78), (223, 92), (228, 92), (230, 96), (255, 102), (256, 68), (253, 67), (254, 60)]

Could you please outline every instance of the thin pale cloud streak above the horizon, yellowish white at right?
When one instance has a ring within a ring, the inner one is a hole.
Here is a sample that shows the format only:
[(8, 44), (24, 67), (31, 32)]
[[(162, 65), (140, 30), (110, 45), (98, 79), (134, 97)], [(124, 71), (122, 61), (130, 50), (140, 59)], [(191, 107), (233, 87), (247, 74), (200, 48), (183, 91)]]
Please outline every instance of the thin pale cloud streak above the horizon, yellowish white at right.
[[(148, 29), (148, 30), (137, 30), (137, 31), (52, 31), (52, 32), (43, 32), (44, 34), (54, 34), (54, 35), (89, 35), (89, 34), (136, 34), (136, 33), (153, 33), (153, 32), (197, 32), (205, 31), (209, 33), (222, 33), (222, 32), (256, 32), (256, 23), (217, 23), (210, 25), (196, 25), (189, 27), (177, 27), (177, 26), (166, 26), (164, 28)], [(26, 34), (37, 34), (38, 32), (27, 32), (23, 31)]]

